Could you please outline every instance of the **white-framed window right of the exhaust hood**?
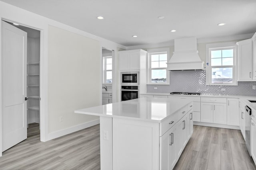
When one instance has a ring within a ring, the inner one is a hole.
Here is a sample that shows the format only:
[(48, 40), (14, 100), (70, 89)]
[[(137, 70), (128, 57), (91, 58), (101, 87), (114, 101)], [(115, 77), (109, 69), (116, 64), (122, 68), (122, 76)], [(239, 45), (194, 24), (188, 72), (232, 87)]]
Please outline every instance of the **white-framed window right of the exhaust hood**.
[(206, 45), (206, 85), (237, 85), (235, 43)]

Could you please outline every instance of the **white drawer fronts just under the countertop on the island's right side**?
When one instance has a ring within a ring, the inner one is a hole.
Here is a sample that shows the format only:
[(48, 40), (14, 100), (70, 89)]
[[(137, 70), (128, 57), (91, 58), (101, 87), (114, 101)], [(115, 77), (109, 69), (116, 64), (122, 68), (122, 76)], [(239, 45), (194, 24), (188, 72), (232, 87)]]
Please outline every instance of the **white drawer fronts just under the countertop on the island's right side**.
[(166, 120), (160, 123), (160, 136), (164, 135), (171, 127), (173, 127), (186, 113), (188, 112), (188, 106), (182, 107), (176, 113), (173, 113)]

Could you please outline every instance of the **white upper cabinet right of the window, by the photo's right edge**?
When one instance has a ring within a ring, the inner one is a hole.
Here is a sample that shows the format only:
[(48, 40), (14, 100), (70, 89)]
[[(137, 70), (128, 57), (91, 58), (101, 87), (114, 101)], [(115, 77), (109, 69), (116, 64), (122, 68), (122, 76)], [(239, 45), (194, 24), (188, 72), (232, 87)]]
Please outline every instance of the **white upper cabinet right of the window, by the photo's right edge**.
[[(246, 39), (236, 43), (238, 45), (238, 81), (256, 80), (255, 43), (255, 35), (252, 39)], [(254, 49), (252, 47), (253, 45)]]

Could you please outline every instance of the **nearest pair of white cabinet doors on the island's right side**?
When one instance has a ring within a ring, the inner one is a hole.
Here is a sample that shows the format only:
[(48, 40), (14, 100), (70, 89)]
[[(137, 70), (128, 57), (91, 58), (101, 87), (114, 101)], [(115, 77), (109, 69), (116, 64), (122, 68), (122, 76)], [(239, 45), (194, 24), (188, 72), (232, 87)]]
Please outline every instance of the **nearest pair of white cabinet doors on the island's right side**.
[(176, 164), (177, 154), (176, 126), (160, 137), (160, 170), (172, 170)]

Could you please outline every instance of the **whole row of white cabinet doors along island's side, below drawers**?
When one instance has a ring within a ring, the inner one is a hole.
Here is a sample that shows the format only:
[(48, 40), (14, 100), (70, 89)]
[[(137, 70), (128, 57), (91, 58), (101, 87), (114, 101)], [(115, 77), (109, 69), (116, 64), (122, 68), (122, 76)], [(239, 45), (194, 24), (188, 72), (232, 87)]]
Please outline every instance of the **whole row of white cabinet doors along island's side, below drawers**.
[(186, 113), (182, 119), (160, 137), (160, 170), (172, 170), (188, 143), (193, 133), (192, 112), (193, 110), (190, 110)]

